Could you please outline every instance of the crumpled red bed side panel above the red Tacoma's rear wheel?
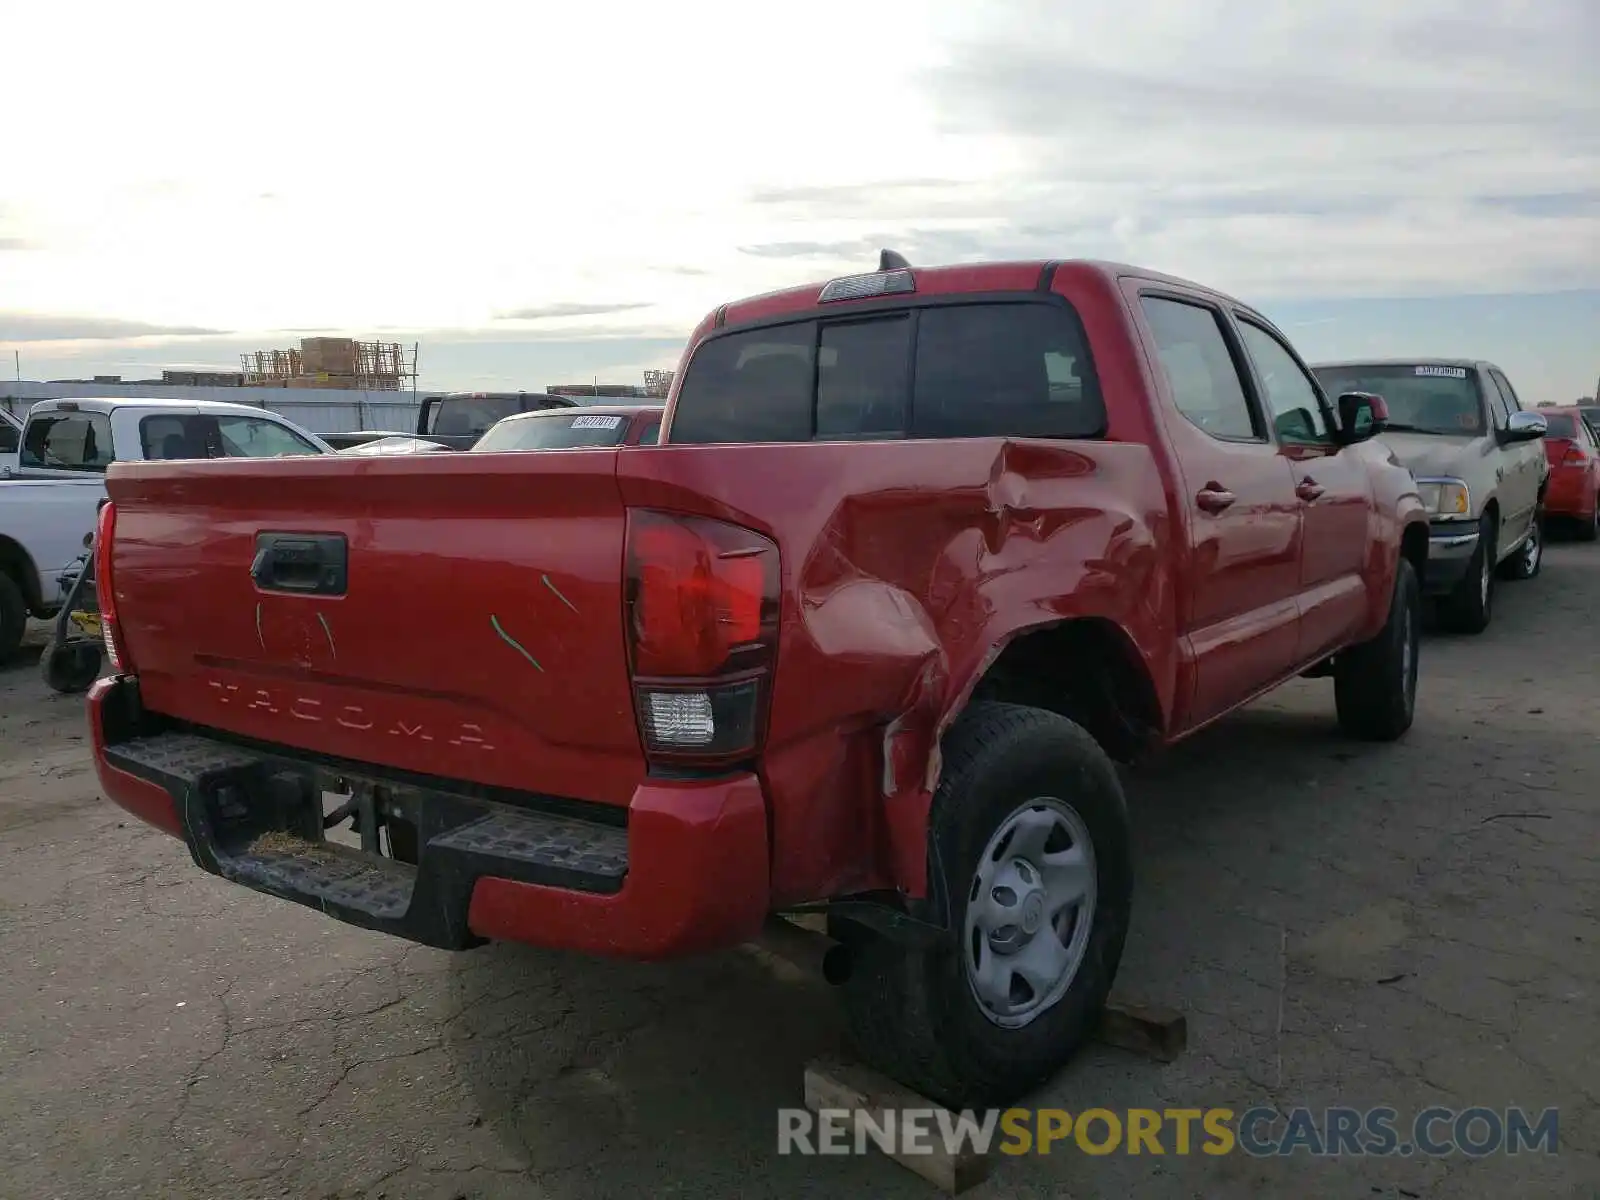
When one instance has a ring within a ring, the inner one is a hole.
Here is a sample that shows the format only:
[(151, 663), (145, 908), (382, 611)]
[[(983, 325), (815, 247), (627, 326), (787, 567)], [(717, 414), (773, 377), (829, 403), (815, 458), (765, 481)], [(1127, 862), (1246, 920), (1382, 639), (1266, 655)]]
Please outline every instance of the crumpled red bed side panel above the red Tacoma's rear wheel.
[(938, 741), (1013, 637), (1096, 616), (1176, 677), (1171, 533), (1146, 445), (674, 446), (622, 456), (629, 506), (773, 538), (782, 624), (763, 776), (773, 902), (925, 891)]

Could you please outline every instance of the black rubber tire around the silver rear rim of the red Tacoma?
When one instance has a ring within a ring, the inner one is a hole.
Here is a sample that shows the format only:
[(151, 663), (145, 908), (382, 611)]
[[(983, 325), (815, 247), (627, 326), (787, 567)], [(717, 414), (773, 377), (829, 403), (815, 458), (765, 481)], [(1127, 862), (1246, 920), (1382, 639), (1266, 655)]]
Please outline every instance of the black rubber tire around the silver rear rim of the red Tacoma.
[[(949, 912), (950, 933), (931, 949), (859, 939), (843, 984), (845, 1013), (858, 1054), (891, 1078), (952, 1109), (1003, 1106), (1054, 1075), (1096, 1032), (1128, 934), (1128, 806), (1106, 752), (1043, 709), (973, 704), (942, 752), (928, 886)], [(1094, 909), (1064, 994), (1029, 1024), (1006, 1029), (986, 1014), (968, 981), (966, 910), (990, 838), (1043, 798), (1069, 806), (1088, 832)]]

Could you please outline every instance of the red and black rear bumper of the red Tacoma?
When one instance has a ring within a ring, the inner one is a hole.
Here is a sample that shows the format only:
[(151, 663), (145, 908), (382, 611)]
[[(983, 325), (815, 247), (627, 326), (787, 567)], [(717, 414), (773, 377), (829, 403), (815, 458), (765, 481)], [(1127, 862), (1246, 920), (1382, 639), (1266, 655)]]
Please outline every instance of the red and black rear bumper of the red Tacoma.
[[(626, 814), (506, 802), (190, 731), (139, 736), (131, 699), (123, 678), (90, 690), (106, 795), (182, 838), (211, 874), (350, 925), (442, 949), (504, 939), (672, 958), (749, 941), (766, 917), (766, 806), (754, 776), (646, 781)], [(334, 774), (406, 813), (414, 864), (322, 840), (322, 784)]]

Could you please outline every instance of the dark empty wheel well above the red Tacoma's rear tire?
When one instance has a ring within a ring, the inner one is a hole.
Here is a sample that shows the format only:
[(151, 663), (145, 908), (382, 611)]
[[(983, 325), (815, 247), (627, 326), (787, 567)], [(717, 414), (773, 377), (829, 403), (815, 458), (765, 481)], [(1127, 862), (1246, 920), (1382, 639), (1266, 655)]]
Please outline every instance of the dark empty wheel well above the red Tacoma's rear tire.
[(1138, 650), (1110, 621), (1080, 618), (1013, 638), (973, 699), (1027, 704), (1078, 725), (1131, 762), (1158, 734), (1162, 706)]

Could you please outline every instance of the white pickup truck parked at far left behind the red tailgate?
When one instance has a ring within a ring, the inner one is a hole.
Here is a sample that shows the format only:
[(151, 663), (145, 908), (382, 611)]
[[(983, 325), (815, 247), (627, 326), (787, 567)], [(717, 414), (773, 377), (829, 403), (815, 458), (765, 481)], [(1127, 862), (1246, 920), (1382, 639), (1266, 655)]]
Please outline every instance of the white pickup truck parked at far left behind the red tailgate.
[(250, 405), (40, 400), (22, 422), (16, 467), (0, 477), (0, 659), (16, 651), (29, 614), (59, 608), (58, 579), (93, 534), (110, 462), (331, 453), (314, 434)]

